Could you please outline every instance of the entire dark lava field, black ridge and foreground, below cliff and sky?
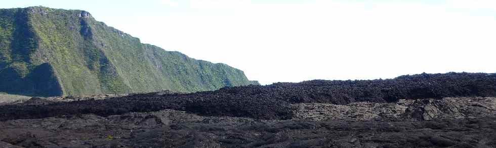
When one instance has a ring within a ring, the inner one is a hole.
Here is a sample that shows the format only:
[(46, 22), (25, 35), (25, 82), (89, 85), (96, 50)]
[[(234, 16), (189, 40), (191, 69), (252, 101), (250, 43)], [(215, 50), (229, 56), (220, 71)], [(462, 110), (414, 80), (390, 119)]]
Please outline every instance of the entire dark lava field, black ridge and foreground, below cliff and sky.
[(496, 74), (0, 105), (0, 147), (496, 147)]

